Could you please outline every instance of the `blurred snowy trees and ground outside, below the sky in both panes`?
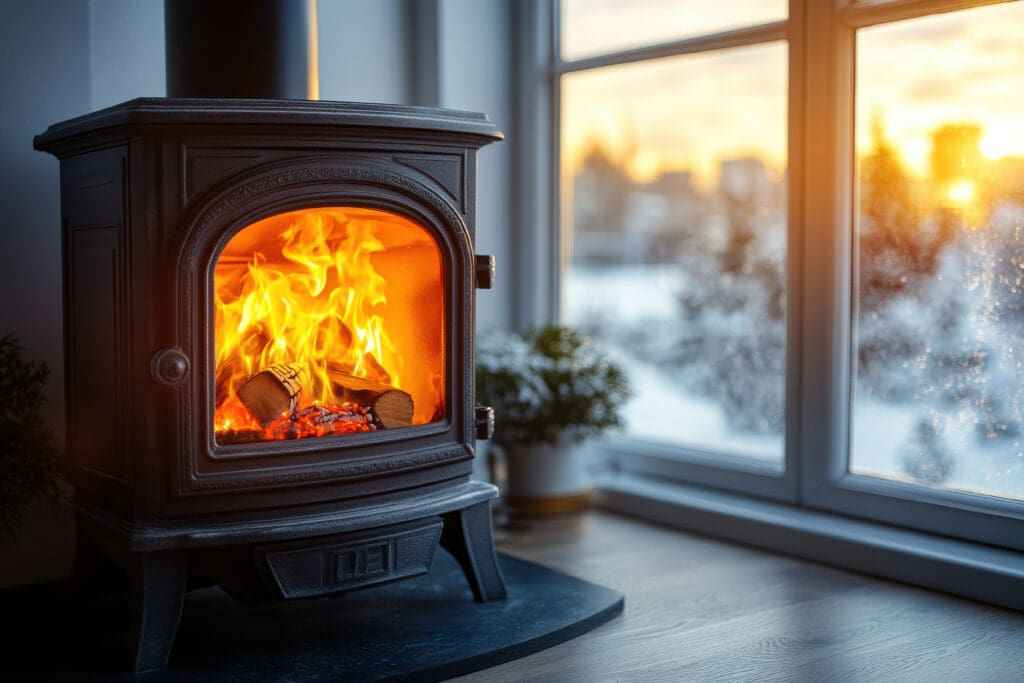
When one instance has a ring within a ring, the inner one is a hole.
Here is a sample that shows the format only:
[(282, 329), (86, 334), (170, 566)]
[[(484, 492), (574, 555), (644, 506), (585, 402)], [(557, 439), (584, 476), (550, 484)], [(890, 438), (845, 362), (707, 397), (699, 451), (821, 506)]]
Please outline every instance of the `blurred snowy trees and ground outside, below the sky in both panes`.
[[(884, 161), (857, 207), (850, 470), (1024, 500), (1024, 199), (968, 221), (918, 207)], [(781, 464), (784, 193), (753, 171), (712, 193), (578, 187), (563, 311), (631, 378), (627, 434)], [(668, 201), (618, 202), (638, 193)], [(623, 207), (641, 205), (637, 241)]]

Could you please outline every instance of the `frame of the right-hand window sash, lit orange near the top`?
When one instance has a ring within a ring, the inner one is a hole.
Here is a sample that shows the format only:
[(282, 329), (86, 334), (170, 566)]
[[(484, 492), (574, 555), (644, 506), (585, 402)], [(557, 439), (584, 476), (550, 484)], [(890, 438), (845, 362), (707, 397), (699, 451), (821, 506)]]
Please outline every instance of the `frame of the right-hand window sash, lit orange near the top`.
[[(804, 154), (801, 339), (804, 394), (800, 468), (805, 506), (900, 524), (933, 533), (1024, 550), (1024, 503), (994, 496), (931, 488), (849, 472), (854, 236), (854, 66), (857, 29), (955, 11), (991, 0), (804, 0), (807, 67), (803, 88)], [(796, 184), (796, 183), (794, 183)], [(825, 225), (830, 229), (813, 229)], [(822, 325), (822, 323), (824, 323)]]

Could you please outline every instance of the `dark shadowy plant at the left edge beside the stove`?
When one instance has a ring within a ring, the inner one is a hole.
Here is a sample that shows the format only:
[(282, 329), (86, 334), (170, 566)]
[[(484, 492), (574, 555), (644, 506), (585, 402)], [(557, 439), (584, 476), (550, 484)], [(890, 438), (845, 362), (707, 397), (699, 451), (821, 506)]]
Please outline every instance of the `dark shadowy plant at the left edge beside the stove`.
[(0, 537), (12, 537), (36, 497), (60, 497), (58, 449), (42, 415), (45, 362), (26, 360), (12, 335), (0, 337)]

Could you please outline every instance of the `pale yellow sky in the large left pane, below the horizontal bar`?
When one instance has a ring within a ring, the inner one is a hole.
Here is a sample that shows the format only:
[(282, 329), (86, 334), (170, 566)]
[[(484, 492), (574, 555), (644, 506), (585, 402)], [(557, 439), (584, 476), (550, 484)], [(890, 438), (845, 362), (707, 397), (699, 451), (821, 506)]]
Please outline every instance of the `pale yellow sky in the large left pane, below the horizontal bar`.
[(563, 143), (570, 159), (594, 140), (629, 160), (638, 179), (690, 169), (714, 181), (718, 161), (785, 159), (786, 47), (775, 42), (569, 74)]

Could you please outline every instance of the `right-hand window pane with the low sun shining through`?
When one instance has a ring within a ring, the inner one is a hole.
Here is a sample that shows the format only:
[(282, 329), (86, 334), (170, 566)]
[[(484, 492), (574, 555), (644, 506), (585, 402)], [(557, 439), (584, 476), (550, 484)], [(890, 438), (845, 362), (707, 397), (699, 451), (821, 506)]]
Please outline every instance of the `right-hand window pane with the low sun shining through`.
[(1022, 26), (858, 33), (853, 472), (1024, 498)]

